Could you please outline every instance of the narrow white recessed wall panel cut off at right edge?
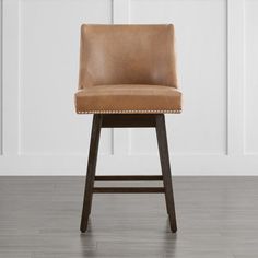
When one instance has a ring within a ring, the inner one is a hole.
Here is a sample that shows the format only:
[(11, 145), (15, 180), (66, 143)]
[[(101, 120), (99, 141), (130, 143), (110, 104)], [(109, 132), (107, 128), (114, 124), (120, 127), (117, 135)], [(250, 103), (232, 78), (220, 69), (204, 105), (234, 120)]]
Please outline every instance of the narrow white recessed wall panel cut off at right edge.
[(258, 154), (258, 1), (246, 0), (245, 151)]

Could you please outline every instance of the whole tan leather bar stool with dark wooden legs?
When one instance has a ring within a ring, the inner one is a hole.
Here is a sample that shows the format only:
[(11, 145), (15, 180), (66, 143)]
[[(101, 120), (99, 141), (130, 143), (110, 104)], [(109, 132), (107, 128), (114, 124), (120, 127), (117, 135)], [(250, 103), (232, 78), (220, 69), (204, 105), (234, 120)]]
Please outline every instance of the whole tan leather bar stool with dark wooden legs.
[[(180, 113), (173, 25), (82, 25), (78, 114), (94, 114), (81, 232), (95, 192), (164, 192), (177, 231), (165, 113)], [(96, 176), (101, 128), (155, 127), (162, 175)], [(164, 187), (94, 187), (95, 180), (163, 180)]]

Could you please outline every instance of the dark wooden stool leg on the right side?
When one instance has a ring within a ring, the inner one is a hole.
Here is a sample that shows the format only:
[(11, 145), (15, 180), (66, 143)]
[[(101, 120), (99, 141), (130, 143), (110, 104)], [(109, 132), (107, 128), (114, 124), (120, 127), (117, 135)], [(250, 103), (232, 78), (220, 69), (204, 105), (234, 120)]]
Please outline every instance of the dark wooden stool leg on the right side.
[(176, 225), (176, 211), (172, 188), (172, 176), (171, 176), (171, 165), (169, 165), (169, 155), (168, 155), (168, 146), (167, 146), (167, 138), (166, 138), (166, 126), (165, 126), (165, 117), (163, 114), (159, 114), (155, 116), (156, 121), (156, 138), (157, 145), (161, 159), (162, 166), (162, 175), (163, 183), (165, 188), (165, 199), (166, 199), (166, 208), (171, 222), (172, 232), (177, 231)]

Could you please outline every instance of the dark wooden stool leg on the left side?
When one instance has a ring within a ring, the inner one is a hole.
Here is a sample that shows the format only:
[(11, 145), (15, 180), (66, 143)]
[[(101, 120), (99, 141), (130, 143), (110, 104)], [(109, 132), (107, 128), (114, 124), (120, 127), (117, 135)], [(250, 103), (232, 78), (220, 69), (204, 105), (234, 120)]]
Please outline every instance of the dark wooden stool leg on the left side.
[(86, 181), (85, 181), (84, 200), (83, 200), (82, 219), (81, 219), (82, 233), (84, 233), (87, 228), (87, 221), (91, 213), (102, 120), (103, 120), (103, 115), (93, 116), (91, 143), (87, 159)]

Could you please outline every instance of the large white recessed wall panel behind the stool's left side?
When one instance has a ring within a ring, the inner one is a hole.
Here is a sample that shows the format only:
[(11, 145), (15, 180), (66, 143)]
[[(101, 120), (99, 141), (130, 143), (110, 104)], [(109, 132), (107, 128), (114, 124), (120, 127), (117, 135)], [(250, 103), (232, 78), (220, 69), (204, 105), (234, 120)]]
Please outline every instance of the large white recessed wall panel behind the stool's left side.
[[(20, 152), (87, 151), (91, 117), (74, 113), (80, 25), (110, 23), (109, 0), (21, 1)], [(104, 130), (101, 152), (110, 152)]]

